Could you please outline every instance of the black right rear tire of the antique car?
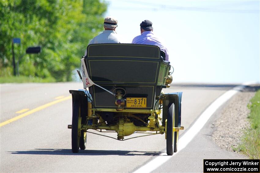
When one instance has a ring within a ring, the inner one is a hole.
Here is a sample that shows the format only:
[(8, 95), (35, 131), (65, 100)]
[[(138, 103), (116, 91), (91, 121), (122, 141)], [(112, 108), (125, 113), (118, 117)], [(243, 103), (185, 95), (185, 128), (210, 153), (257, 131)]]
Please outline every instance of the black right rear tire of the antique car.
[(174, 125), (174, 103), (169, 103), (168, 105), (168, 115), (167, 115), (167, 129), (166, 129), (166, 152), (168, 156), (173, 155), (174, 148), (174, 133), (173, 133), (173, 125)]

